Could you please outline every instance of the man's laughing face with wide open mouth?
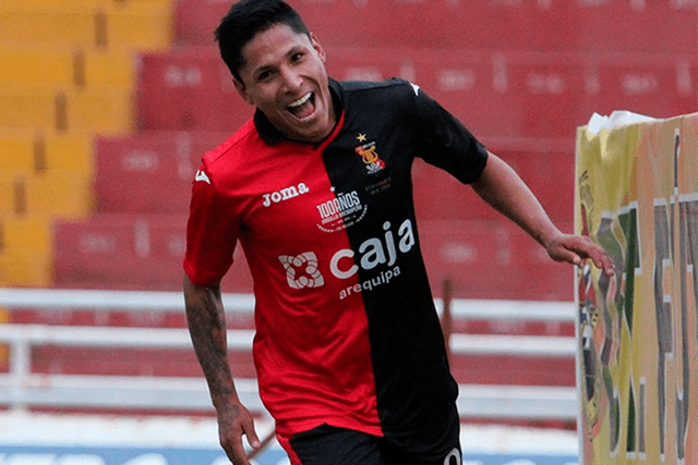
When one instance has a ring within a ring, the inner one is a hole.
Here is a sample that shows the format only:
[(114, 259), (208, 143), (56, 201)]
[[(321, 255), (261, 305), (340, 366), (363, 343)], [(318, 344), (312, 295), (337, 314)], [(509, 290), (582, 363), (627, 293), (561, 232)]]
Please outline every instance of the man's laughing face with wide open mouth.
[(257, 33), (242, 49), (236, 88), (287, 137), (323, 140), (336, 123), (325, 52), (315, 36), (284, 23)]

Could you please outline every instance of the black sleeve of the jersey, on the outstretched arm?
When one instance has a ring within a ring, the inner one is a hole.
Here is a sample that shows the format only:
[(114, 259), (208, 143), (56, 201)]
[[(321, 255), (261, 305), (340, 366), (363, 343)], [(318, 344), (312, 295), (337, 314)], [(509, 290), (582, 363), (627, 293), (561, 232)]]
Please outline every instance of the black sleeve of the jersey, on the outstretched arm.
[(412, 84), (418, 126), (426, 147), (421, 158), (460, 182), (478, 180), (488, 162), (488, 150), (458, 119)]

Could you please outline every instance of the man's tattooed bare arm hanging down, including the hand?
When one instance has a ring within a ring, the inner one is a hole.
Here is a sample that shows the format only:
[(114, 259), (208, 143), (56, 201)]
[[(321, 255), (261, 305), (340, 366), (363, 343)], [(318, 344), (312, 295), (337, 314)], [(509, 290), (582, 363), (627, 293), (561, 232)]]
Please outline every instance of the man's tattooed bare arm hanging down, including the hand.
[(242, 436), (253, 448), (260, 446), (260, 440), (232, 381), (220, 284), (198, 286), (184, 274), (183, 287), (189, 332), (218, 416), (220, 445), (234, 465), (249, 465)]

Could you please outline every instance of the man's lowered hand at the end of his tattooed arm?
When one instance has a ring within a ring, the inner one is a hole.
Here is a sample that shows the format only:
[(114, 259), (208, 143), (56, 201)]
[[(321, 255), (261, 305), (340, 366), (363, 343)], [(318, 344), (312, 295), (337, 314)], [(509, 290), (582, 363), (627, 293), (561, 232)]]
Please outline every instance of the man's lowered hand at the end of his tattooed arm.
[(261, 446), (252, 415), (242, 404), (231, 404), (221, 408), (218, 412), (218, 437), (220, 445), (233, 465), (250, 465), (242, 445), (243, 435), (253, 449)]

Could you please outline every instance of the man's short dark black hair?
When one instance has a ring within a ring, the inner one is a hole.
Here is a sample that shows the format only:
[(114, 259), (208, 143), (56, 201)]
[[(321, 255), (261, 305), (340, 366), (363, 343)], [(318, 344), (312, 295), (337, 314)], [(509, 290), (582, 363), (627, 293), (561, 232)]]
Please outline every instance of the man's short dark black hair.
[(230, 73), (240, 79), (240, 68), (244, 64), (242, 49), (257, 33), (286, 24), (296, 34), (310, 32), (296, 10), (282, 0), (241, 0), (234, 3), (220, 20), (215, 32), (220, 58)]

